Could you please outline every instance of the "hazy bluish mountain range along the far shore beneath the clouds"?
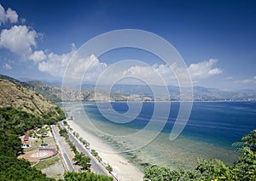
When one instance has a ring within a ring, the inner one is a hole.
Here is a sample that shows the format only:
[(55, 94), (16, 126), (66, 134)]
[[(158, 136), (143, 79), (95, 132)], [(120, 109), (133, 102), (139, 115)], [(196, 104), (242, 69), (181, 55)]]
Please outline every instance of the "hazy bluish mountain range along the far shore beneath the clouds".
[[(163, 87), (153, 86), (158, 95), (154, 95), (146, 85), (122, 85), (116, 84), (108, 90), (106, 86), (84, 84), (79, 88), (61, 88), (61, 86), (49, 85), (39, 81), (20, 82), (12, 77), (0, 75), (1, 79), (18, 83), (25, 88), (44, 95), (45, 98), (54, 101), (178, 101), (180, 90), (175, 86), (168, 86), (168, 95), (161, 94)], [(193, 88), (194, 101), (247, 101), (256, 100), (256, 91), (241, 90), (236, 92), (222, 91), (217, 88)]]

